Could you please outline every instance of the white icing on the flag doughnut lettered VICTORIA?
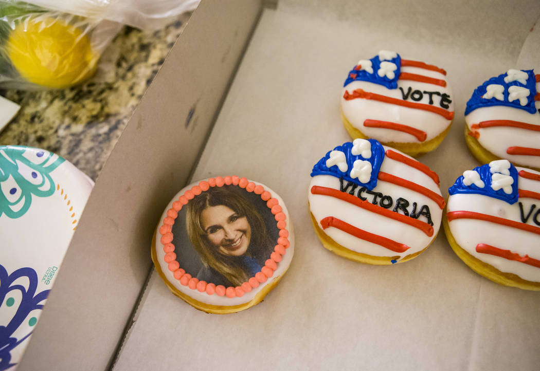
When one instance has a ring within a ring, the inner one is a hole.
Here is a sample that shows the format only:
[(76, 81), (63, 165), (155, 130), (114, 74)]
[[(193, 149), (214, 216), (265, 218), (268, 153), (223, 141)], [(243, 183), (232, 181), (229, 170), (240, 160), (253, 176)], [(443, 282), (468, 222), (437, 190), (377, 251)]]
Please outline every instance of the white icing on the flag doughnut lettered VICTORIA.
[[(384, 147), (384, 149), (386, 151), (386, 149), (392, 148)], [(395, 150), (395, 152), (401, 153), (397, 150)], [(410, 156), (407, 157), (412, 158)], [(431, 177), (424, 174), (422, 171), (410, 167), (402, 162), (392, 160), (389, 157), (384, 157), (384, 161), (382, 163), (380, 171), (402, 177), (411, 182), (415, 182), (422, 185), (423, 187), (433, 190), (436, 194), (441, 195), (441, 191), (438, 188), (438, 185), (433, 181)], [(417, 212), (420, 210), (422, 205), (428, 205), (431, 213), (431, 219), (434, 223), (433, 236), (429, 237), (426, 235), (426, 233), (422, 232), (417, 228), (414, 228), (409, 224), (405, 224), (394, 219), (384, 217), (366, 209), (357, 207), (346, 201), (339, 200), (338, 198), (324, 195), (314, 195), (311, 193), (311, 188), (314, 185), (320, 185), (321, 187), (328, 187), (339, 190), (340, 180), (339, 178), (331, 175), (316, 175), (312, 178), (311, 184), (309, 184), (309, 208), (316, 221), (319, 222), (320, 228), (322, 228), (322, 226), (320, 225), (320, 221), (323, 218), (327, 216), (334, 216), (364, 231), (392, 239), (393, 241), (406, 244), (410, 247), (410, 249), (408, 249), (407, 251), (399, 253), (384, 248), (383, 246), (370, 243), (352, 235), (349, 235), (349, 233), (343, 232), (337, 228), (330, 227), (324, 230), (325, 233), (335, 242), (339, 243), (342, 246), (345, 246), (345, 248), (352, 251), (361, 252), (372, 256), (401, 258), (426, 248), (426, 246), (428, 246), (437, 235), (438, 229), (441, 225), (442, 210), (440, 207), (438, 207), (435, 201), (431, 200), (427, 196), (424, 196), (410, 189), (400, 187), (399, 185), (395, 185), (393, 183), (383, 182), (379, 180), (377, 182), (377, 186), (373, 189), (373, 191), (380, 192), (383, 195), (392, 197), (393, 205), (389, 208), (389, 210), (394, 209), (396, 200), (399, 197), (405, 198), (410, 202), (410, 205), (407, 208), (409, 212), (412, 210), (413, 202), (416, 202), (418, 204), (416, 208)], [(359, 188), (360, 187), (357, 187), (355, 189), (355, 195), (356, 191)], [(363, 193), (363, 196), (367, 197), (367, 200), (369, 202), (373, 201), (372, 195)], [(400, 214), (403, 214), (401, 210), (399, 211)], [(420, 216), (419, 220), (425, 222), (426, 218)]]

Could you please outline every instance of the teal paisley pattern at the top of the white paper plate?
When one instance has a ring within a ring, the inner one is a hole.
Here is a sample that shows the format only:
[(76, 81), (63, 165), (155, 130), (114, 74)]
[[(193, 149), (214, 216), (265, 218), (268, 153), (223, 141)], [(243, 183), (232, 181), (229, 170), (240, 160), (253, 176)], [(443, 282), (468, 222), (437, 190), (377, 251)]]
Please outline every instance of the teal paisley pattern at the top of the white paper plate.
[(64, 161), (41, 149), (0, 146), (0, 216), (19, 218), (30, 208), (32, 195), (55, 193), (50, 173)]

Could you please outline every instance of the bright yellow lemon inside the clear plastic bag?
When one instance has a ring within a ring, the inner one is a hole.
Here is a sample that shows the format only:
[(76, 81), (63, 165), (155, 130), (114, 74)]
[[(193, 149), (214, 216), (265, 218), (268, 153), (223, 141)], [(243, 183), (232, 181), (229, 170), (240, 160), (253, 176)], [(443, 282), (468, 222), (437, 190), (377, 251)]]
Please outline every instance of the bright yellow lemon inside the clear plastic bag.
[(26, 80), (52, 88), (80, 83), (96, 71), (89, 38), (60, 19), (17, 24), (6, 44), (11, 63)]

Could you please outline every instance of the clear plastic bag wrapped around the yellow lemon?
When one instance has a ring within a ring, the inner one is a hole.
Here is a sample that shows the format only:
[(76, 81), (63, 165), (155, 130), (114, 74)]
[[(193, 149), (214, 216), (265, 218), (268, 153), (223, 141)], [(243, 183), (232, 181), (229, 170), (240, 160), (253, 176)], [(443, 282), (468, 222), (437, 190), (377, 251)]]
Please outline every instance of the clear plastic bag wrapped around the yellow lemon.
[(122, 24), (0, 2), (0, 86), (64, 88), (91, 77)]

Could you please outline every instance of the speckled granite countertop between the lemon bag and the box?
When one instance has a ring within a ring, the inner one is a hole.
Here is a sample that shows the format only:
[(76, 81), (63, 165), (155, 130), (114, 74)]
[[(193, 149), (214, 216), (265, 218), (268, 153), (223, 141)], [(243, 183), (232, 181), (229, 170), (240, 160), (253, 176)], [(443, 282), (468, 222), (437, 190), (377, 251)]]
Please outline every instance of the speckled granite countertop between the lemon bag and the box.
[(50, 150), (96, 180), (190, 15), (156, 32), (124, 28), (103, 53), (95, 77), (83, 85), (7, 91), (5, 97), (21, 110), (0, 132), (0, 145)]

